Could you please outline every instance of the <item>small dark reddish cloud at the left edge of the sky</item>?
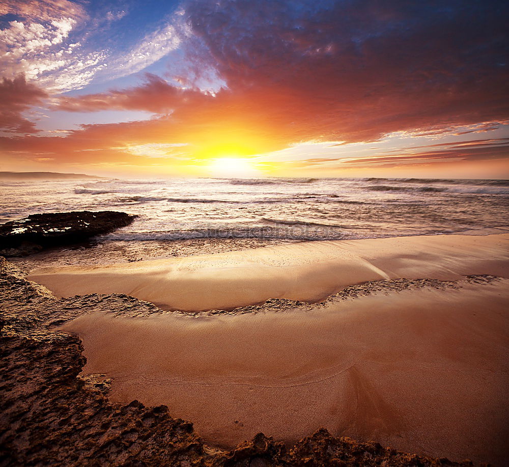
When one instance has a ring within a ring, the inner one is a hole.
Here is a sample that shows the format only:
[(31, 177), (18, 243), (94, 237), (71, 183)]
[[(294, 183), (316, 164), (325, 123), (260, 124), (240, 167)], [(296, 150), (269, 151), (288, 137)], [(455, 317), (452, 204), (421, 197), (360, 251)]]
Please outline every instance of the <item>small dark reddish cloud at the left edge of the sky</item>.
[(0, 128), (18, 133), (37, 132), (35, 124), (23, 112), (47, 97), (42, 89), (27, 83), (23, 75), (0, 81)]

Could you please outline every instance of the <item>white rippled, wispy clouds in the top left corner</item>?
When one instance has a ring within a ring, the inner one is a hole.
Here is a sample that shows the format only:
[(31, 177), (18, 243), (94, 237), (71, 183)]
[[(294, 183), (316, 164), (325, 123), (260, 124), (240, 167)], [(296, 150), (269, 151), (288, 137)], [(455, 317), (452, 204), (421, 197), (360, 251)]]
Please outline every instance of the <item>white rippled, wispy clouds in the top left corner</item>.
[[(87, 4), (84, 4), (87, 5)], [(93, 80), (125, 76), (156, 62), (179, 46), (174, 19), (163, 18), (142, 37), (125, 37), (110, 31), (112, 24), (128, 15), (127, 10), (87, 5), (65, 0), (15, 1), (0, 6), (0, 14), (13, 14), (0, 30), (2, 75), (24, 73), (51, 92), (81, 89)], [(129, 24), (129, 28), (136, 28)], [(124, 40), (122, 40), (124, 39)]]

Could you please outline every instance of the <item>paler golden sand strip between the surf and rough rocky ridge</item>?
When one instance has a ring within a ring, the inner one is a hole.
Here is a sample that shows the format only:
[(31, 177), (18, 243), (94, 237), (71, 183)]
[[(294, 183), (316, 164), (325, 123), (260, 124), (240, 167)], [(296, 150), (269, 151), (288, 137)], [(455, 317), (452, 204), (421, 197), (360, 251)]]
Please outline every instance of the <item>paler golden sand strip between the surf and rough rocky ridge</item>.
[(269, 298), (315, 302), (366, 281), (509, 278), (509, 234), (316, 241), (103, 266), (44, 267), (27, 279), (56, 296), (125, 293), (164, 310), (233, 309)]

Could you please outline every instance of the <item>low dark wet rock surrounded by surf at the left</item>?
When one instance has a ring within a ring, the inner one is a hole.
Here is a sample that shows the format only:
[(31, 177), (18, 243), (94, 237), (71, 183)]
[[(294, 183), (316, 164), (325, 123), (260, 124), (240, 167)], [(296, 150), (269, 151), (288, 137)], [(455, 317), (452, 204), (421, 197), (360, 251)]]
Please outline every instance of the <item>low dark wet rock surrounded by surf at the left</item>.
[(116, 211), (32, 214), (0, 225), (0, 255), (26, 256), (52, 246), (81, 243), (128, 226), (135, 217)]

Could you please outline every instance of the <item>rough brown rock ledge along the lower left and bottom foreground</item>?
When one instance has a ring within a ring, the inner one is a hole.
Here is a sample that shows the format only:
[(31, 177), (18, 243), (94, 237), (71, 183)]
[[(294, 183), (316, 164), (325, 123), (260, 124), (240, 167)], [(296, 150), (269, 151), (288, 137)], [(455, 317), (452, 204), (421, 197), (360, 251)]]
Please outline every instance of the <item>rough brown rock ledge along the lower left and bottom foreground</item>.
[[(357, 443), (320, 429), (291, 449), (262, 433), (231, 451), (207, 446), (166, 406), (108, 400), (104, 375), (80, 377), (78, 337), (51, 324), (100, 307), (153, 311), (127, 296), (58, 299), (0, 258), (0, 466), (467, 466)], [(116, 305), (116, 306), (112, 306)]]

